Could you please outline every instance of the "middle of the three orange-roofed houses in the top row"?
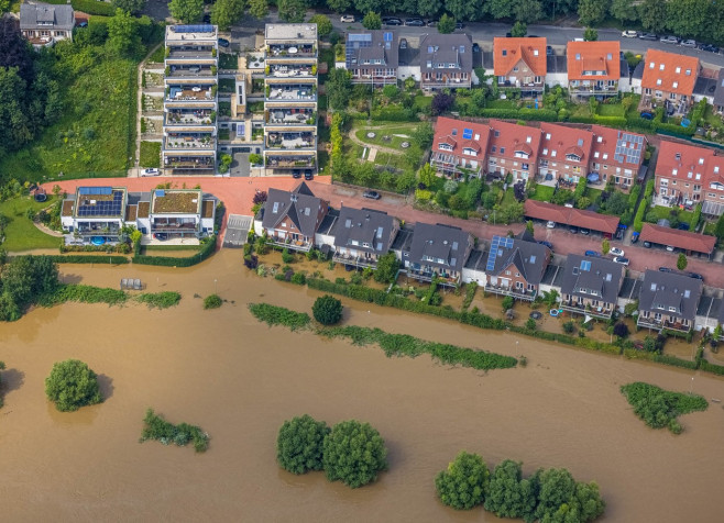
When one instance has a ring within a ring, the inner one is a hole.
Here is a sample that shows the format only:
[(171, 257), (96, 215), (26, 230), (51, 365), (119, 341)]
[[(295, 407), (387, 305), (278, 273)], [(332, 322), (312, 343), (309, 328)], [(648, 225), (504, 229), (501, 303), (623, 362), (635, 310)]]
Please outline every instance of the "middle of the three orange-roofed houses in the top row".
[(573, 97), (618, 96), (621, 44), (616, 42), (569, 42), (568, 88)]

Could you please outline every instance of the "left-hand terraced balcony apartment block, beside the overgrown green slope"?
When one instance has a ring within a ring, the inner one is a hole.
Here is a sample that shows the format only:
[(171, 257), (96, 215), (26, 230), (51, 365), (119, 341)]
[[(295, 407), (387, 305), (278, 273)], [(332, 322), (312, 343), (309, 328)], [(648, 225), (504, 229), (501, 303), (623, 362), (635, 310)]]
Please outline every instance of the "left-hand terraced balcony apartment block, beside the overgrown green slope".
[(166, 27), (161, 151), (169, 174), (216, 171), (218, 37), (216, 25)]

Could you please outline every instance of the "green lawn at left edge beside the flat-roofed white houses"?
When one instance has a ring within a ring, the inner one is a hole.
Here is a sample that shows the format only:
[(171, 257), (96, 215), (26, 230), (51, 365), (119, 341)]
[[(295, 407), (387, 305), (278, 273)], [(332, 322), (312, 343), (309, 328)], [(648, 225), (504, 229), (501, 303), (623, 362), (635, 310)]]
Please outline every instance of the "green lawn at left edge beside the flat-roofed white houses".
[(8, 218), (6, 241), (0, 245), (9, 252), (30, 251), (33, 248), (55, 248), (61, 238), (41, 232), (32, 220), (25, 216), (28, 209), (40, 211), (50, 207), (55, 197), (48, 194), (47, 201), (37, 203), (30, 197), (15, 198), (0, 203), (0, 214)]

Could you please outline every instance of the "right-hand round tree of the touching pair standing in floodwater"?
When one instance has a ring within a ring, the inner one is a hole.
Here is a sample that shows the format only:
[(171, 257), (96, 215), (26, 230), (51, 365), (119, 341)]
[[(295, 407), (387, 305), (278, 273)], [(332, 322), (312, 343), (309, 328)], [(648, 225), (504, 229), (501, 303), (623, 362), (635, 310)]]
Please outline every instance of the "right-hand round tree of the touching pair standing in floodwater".
[(356, 489), (377, 479), (387, 468), (387, 448), (369, 423), (343, 421), (325, 438), (323, 464), (327, 479), (340, 480)]

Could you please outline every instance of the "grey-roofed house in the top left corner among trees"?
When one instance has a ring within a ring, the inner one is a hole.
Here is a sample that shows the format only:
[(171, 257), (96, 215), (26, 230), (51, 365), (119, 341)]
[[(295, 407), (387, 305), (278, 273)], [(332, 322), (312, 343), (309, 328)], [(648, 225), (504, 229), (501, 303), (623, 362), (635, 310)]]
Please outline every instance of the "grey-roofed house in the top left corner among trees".
[(43, 2), (20, 4), (20, 33), (36, 48), (62, 40), (72, 41), (75, 25), (75, 11), (69, 2), (67, 5)]

